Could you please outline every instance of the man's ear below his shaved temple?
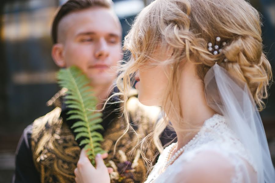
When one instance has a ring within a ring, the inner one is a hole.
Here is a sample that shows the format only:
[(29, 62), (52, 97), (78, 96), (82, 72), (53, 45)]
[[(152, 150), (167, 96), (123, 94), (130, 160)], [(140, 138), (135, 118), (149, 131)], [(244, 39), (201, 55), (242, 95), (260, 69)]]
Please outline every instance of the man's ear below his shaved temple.
[(52, 57), (54, 63), (60, 68), (66, 67), (66, 62), (63, 56), (64, 46), (60, 43), (54, 44), (52, 48)]

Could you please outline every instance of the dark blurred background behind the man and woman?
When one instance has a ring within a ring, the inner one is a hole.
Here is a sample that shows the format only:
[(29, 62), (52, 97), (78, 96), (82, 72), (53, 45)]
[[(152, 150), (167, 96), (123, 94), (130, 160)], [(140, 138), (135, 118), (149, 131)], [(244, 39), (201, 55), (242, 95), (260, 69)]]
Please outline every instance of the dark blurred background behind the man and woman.
[[(123, 37), (151, 0), (113, 0)], [(11, 182), (14, 153), (24, 128), (50, 112), (46, 102), (58, 91), (51, 58), (51, 21), (64, 0), (1, 0), (0, 5), (0, 183)], [(262, 14), (265, 51), (275, 71), (275, 0), (251, 0)], [(126, 21), (127, 20), (127, 21)], [(275, 84), (261, 112), (275, 163)]]

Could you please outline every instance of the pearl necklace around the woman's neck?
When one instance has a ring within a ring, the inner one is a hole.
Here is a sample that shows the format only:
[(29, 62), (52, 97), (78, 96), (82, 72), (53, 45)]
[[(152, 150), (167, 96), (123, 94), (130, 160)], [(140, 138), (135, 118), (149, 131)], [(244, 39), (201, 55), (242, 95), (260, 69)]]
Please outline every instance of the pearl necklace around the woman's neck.
[(171, 149), (169, 150), (167, 156), (166, 156), (166, 163), (165, 163), (165, 166), (163, 167), (163, 171), (171, 164), (174, 163), (174, 161), (178, 158), (178, 156), (180, 156), (183, 151), (185, 150), (186, 146), (189, 146), (190, 144), (192, 144), (192, 142), (198, 137), (200, 132), (198, 132), (198, 134), (195, 135), (195, 137), (192, 138), (192, 140), (190, 140), (187, 144), (185, 144), (181, 149), (179, 149), (172, 158), (171, 157), (171, 154), (172, 152), (174, 151), (174, 149), (176, 148), (176, 143), (171, 147)]

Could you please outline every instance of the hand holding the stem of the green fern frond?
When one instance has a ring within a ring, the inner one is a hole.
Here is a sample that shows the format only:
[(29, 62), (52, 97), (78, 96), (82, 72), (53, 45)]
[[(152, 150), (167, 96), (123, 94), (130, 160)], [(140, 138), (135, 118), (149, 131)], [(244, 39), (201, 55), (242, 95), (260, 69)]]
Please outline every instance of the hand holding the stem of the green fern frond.
[(75, 169), (76, 183), (110, 183), (110, 175), (112, 168), (107, 168), (103, 159), (107, 158), (108, 154), (97, 154), (95, 158), (96, 167), (94, 167), (86, 155), (86, 151), (82, 149), (77, 168)]

